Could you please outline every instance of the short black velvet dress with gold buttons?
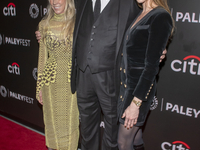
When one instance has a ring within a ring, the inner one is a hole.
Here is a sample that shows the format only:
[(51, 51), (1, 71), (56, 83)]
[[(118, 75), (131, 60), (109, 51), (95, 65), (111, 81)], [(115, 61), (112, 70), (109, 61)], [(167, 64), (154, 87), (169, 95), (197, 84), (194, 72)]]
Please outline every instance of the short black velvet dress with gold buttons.
[(165, 9), (157, 7), (132, 27), (135, 20), (124, 39), (118, 117), (119, 122), (124, 124), (125, 119), (121, 116), (135, 96), (142, 100), (135, 126), (142, 126), (155, 95), (155, 77), (159, 71), (160, 56), (171, 34), (172, 19)]

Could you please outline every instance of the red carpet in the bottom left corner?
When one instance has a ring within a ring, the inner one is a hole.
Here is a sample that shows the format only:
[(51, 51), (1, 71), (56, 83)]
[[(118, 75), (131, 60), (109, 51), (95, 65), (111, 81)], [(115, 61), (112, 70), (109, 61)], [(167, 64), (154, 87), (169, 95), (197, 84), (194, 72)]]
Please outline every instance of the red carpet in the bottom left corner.
[(0, 150), (47, 150), (45, 137), (0, 116)]

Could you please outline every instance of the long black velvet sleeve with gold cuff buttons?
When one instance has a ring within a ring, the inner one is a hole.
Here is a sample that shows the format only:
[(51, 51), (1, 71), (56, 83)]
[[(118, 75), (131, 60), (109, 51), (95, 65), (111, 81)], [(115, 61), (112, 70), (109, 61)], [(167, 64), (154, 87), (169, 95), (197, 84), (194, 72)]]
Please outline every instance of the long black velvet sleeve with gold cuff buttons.
[(145, 68), (139, 78), (133, 95), (147, 101), (159, 71), (160, 56), (166, 48), (172, 30), (172, 19), (169, 13), (157, 14), (149, 28), (149, 37), (145, 54)]

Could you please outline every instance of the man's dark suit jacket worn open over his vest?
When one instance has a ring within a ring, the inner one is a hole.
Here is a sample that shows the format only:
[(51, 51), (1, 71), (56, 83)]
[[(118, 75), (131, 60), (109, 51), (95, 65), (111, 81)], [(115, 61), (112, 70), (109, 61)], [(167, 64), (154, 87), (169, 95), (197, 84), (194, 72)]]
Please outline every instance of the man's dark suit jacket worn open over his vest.
[[(76, 91), (76, 79), (77, 79), (77, 64), (76, 64), (76, 40), (78, 37), (78, 30), (80, 21), (82, 20), (83, 11), (86, 9), (85, 5), (88, 0), (77, 0), (76, 3), (76, 23), (74, 29), (74, 38), (73, 38), (73, 52), (72, 52), (72, 74), (71, 74), (71, 90), (72, 93)], [(112, 11), (112, 10), (110, 10)], [(119, 63), (121, 60), (121, 56), (119, 56), (121, 51), (121, 44), (124, 37), (124, 32), (127, 27), (130, 25), (132, 20), (137, 16), (139, 12), (139, 8), (134, 0), (120, 0), (119, 4), (119, 20), (118, 20), (118, 28), (117, 28), (117, 41), (116, 41), (116, 53), (115, 53), (115, 83), (116, 89), (118, 89), (119, 85)]]

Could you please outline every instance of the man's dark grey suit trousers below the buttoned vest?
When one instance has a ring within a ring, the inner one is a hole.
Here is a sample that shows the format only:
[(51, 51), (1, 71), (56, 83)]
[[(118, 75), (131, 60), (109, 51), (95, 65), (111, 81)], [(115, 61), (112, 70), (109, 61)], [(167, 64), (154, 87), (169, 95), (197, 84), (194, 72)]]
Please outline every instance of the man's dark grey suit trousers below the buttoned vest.
[(117, 150), (117, 97), (114, 70), (92, 74), (90, 67), (78, 71), (77, 101), (81, 118), (81, 150), (99, 150), (101, 112), (105, 129), (102, 150)]

